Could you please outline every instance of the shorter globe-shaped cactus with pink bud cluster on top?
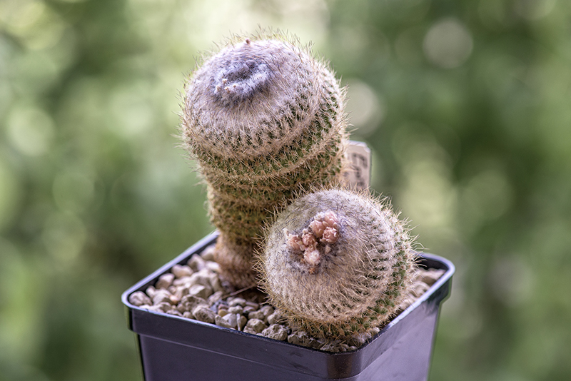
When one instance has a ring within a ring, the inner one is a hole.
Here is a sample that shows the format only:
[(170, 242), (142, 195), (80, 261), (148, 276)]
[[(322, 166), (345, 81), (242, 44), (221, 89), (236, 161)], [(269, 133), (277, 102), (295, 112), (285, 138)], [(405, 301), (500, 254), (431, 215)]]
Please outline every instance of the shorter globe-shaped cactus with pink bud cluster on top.
[(344, 189), (295, 200), (268, 229), (261, 286), (290, 325), (347, 338), (388, 322), (407, 295), (415, 254), (388, 203)]

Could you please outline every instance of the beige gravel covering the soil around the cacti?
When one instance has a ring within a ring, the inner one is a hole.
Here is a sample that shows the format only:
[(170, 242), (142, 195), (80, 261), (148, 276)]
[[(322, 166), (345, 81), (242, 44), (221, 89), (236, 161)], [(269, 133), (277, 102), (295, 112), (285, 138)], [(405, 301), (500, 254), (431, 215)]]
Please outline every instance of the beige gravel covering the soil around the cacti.
[[(278, 310), (265, 303), (262, 293), (232, 290), (224, 284), (218, 276), (220, 269), (214, 262), (213, 250), (211, 245), (200, 255), (194, 254), (186, 265), (174, 265), (170, 273), (161, 275), (145, 293), (136, 291), (129, 295), (129, 303), (325, 352), (355, 350), (380, 331), (381, 327), (374, 327), (344, 341), (310, 337), (303, 330), (290, 327)], [(418, 268), (413, 287), (398, 313), (420, 298), (444, 273), (445, 270)]]

